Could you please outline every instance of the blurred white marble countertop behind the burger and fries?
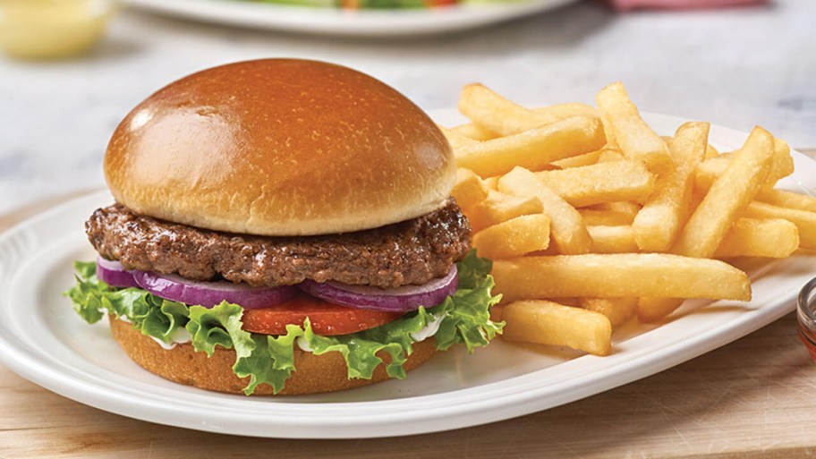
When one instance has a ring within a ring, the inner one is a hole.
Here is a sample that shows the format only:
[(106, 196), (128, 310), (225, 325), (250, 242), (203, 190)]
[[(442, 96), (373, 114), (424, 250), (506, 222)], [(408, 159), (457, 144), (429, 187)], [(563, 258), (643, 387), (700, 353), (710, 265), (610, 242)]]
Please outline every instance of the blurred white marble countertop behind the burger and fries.
[(0, 57), (0, 213), (102, 186), (115, 125), (141, 99), (187, 73), (231, 61), (297, 56), (386, 81), (426, 109), (455, 106), (482, 81), (518, 101), (592, 102), (625, 81), (643, 110), (816, 147), (816, 2), (764, 8), (617, 15), (581, 3), (452, 36), (320, 38), (240, 30), (124, 11), (85, 57)]

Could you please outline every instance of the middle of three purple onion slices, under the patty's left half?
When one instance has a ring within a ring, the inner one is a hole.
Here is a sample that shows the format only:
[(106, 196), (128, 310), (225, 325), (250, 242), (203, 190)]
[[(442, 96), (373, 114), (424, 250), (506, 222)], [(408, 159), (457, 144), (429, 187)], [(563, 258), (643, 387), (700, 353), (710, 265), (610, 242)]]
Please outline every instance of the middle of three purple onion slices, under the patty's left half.
[(298, 293), (294, 285), (252, 287), (229, 281), (199, 282), (147, 271), (133, 271), (133, 277), (141, 288), (160, 298), (207, 308), (224, 301), (238, 304), (245, 310), (268, 308), (291, 300)]

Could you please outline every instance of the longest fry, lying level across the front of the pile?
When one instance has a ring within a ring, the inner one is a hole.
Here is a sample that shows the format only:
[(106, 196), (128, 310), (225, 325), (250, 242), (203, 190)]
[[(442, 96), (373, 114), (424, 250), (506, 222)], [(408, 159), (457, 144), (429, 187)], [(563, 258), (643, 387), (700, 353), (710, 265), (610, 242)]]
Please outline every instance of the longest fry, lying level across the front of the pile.
[(493, 263), (504, 300), (561, 297), (711, 298), (748, 301), (751, 283), (716, 259), (663, 253), (522, 257)]

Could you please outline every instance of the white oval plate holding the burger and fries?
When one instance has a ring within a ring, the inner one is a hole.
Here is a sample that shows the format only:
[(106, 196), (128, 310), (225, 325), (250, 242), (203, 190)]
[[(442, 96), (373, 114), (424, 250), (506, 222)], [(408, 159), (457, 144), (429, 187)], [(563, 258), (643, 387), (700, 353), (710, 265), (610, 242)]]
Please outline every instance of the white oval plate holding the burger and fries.
[[(436, 112), (444, 124), (453, 111)], [(658, 132), (684, 120), (647, 115)], [(745, 134), (712, 126), (711, 143), (734, 149)], [(786, 188), (816, 188), (816, 162), (794, 154)], [(402, 381), (328, 395), (245, 397), (175, 384), (140, 369), (104, 322), (89, 326), (61, 292), (72, 260), (92, 259), (83, 222), (112, 199), (99, 192), (31, 218), (0, 236), (0, 362), (42, 387), (109, 412), (190, 429), (274, 438), (370, 438), (457, 429), (566, 404), (666, 370), (794, 310), (816, 262), (778, 262), (753, 284), (749, 303), (684, 306), (662, 327), (632, 321), (614, 353), (545, 353), (497, 341), (473, 355), (440, 353)], [(765, 267), (766, 271), (768, 267)]]

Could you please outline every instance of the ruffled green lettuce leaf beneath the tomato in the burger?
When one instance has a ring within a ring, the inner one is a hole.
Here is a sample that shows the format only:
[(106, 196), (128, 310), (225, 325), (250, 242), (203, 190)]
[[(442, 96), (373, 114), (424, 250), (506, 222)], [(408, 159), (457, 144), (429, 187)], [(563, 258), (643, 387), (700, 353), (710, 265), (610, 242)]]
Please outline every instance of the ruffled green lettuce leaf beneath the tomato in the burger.
[(234, 349), (233, 371), (239, 378), (249, 378), (244, 394), (251, 395), (260, 384), (268, 384), (275, 394), (285, 387), (294, 366), (294, 346), (302, 339), (315, 354), (338, 352), (343, 354), (349, 378), (370, 379), (383, 362), (377, 353), (390, 356), (386, 371), (391, 378), (405, 378), (404, 362), (412, 353), (411, 337), (429, 323), (441, 319), (433, 336), (438, 350), (447, 350), (454, 344), (465, 344), (472, 353), (489, 344), (501, 333), (504, 322), (490, 320), (490, 308), (501, 295), (493, 296), (493, 278), (489, 275), (492, 263), (480, 259), (475, 251), (457, 263), (459, 288), (441, 304), (429, 309), (420, 308), (386, 325), (341, 336), (318, 336), (311, 329), (309, 319), (302, 327), (289, 325), (287, 333), (279, 336), (260, 335), (242, 329), (243, 308), (222, 302), (213, 308), (188, 306), (159, 298), (137, 287), (115, 288), (96, 276), (93, 261), (74, 263), (76, 285), (64, 295), (81, 319), (90, 324), (104, 317), (104, 312), (127, 319), (132, 327), (145, 336), (171, 344), (172, 336), (180, 327), (191, 335), (196, 352), (211, 356), (217, 346)]

